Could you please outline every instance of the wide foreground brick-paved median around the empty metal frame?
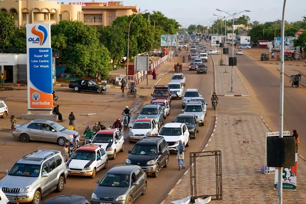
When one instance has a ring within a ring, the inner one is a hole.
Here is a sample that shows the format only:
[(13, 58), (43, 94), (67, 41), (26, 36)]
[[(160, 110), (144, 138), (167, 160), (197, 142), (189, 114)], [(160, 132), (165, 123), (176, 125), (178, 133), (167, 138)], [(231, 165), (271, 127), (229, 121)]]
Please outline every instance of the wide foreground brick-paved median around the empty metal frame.
[[(223, 200), (220, 204), (277, 203), (274, 174), (259, 172), (264, 165), (266, 132), (270, 132), (260, 116), (218, 115), (217, 125), (205, 151), (221, 150)], [(250, 141), (243, 144), (243, 141)], [(203, 157), (202, 157), (203, 158)], [(215, 194), (215, 158), (196, 161), (197, 194)], [(189, 159), (189, 155), (185, 155)], [(205, 160), (205, 161), (204, 161)], [(306, 161), (298, 157), (297, 191), (283, 191), (283, 203), (306, 202)], [(171, 192), (171, 191), (170, 191)], [(190, 170), (163, 204), (190, 195)]]

